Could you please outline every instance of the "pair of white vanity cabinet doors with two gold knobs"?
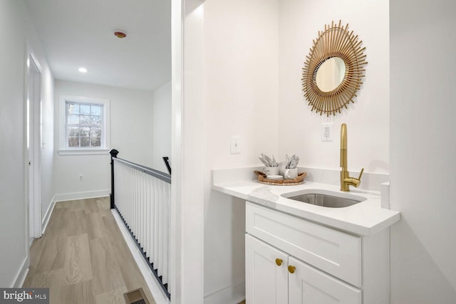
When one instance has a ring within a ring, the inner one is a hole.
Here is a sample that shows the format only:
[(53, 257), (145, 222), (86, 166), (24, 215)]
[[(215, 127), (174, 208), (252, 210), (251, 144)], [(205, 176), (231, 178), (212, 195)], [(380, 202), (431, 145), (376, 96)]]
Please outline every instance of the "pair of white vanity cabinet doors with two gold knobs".
[(246, 303), (361, 304), (353, 288), (246, 234)]

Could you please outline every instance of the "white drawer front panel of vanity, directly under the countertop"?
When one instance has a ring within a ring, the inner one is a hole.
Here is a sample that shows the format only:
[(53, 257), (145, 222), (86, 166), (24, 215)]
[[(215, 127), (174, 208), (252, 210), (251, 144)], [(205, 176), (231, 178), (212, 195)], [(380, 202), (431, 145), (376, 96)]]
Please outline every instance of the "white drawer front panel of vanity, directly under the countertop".
[(246, 231), (301, 261), (361, 286), (361, 237), (248, 202)]

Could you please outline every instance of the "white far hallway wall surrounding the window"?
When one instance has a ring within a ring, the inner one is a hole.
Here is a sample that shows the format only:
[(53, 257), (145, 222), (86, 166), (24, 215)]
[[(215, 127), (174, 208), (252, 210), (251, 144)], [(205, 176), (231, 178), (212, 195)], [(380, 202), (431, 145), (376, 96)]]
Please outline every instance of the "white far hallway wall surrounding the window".
[[(58, 121), (60, 95), (105, 98), (110, 100), (110, 149), (120, 153), (118, 157), (147, 167), (151, 166), (152, 132), (149, 109), (152, 92), (90, 85), (56, 80), (55, 111)], [(58, 124), (55, 129), (58, 147)], [(55, 153), (55, 187), (57, 199), (82, 198), (110, 193), (110, 155), (60, 155)], [(83, 174), (83, 181), (79, 180)], [(65, 194), (65, 195), (64, 195)]]

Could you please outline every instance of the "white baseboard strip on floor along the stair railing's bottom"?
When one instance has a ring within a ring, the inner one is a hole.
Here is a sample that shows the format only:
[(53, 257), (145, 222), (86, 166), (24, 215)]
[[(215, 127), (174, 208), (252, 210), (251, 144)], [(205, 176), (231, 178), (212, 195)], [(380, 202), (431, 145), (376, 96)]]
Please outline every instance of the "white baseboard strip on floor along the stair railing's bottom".
[(147, 287), (149, 288), (150, 293), (152, 293), (152, 296), (154, 297), (155, 303), (170, 304), (170, 300), (168, 300), (167, 296), (162, 290), (162, 287), (157, 283), (155, 276), (150, 270), (146, 261), (144, 261), (144, 258), (142, 258), (142, 253), (138, 249), (138, 246), (136, 246), (136, 243), (133, 241), (130, 232), (128, 232), (128, 230), (125, 228), (125, 225), (123, 224), (122, 219), (120, 219), (119, 214), (117, 213), (117, 211), (115, 211), (115, 209), (112, 209), (111, 212), (113, 213), (115, 222), (119, 226), (123, 239), (125, 239), (125, 242), (128, 245), (128, 249), (130, 249), (130, 252), (133, 255), (133, 258), (135, 259), (138, 268), (140, 268), (145, 283), (147, 283)]

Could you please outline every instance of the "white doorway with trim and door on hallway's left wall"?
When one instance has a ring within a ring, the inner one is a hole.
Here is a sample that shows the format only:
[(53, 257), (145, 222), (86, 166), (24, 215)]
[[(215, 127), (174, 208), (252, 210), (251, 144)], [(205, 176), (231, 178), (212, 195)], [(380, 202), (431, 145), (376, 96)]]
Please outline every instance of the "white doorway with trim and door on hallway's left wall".
[[(41, 65), (33, 49), (26, 41), (25, 58), (25, 194), (28, 241), (42, 235), (41, 223)], [(36, 79), (30, 81), (31, 69), (36, 70)], [(33, 86), (33, 87), (32, 87)]]

